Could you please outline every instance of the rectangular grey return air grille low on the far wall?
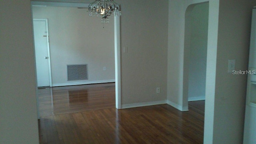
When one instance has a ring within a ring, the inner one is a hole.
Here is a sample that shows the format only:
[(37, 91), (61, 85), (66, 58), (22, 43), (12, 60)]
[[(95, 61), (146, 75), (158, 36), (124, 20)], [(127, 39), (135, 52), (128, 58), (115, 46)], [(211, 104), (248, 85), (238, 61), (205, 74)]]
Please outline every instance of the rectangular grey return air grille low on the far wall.
[(88, 80), (87, 64), (67, 65), (68, 80)]

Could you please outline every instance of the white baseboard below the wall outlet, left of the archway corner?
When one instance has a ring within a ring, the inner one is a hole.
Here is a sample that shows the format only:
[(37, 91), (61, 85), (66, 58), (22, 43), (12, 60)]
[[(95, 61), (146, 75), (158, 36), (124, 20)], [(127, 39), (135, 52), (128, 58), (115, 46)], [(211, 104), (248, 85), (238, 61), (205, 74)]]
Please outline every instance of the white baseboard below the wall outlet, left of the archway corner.
[(154, 102), (139, 102), (133, 104), (122, 104), (122, 109), (124, 108), (136, 108), (142, 106), (154, 106), (158, 104), (166, 104), (166, 100), (154, 101)]

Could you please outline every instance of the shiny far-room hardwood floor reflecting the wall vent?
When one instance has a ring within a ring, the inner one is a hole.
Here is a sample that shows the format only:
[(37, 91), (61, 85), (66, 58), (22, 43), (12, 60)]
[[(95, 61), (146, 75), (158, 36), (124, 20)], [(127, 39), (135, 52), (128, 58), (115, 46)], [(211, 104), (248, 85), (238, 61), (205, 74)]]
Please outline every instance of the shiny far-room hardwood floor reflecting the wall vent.
[(115, 83), (38, 89), (40, 116), (115, 107)]

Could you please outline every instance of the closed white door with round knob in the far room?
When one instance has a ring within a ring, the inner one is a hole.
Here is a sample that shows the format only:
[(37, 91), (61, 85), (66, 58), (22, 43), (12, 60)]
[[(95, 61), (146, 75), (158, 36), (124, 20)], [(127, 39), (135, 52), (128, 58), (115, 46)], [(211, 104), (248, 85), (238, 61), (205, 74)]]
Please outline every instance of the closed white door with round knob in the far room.
[(37, 86), (51, 86), (47, 19), (33, 19)]

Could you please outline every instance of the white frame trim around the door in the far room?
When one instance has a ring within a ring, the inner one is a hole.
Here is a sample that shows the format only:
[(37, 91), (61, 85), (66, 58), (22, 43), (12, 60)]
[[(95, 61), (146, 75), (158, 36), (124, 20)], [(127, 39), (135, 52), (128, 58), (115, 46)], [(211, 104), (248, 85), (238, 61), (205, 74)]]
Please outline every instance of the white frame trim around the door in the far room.
[[(34, 21), (44, 21), (46, 24), (46, 41), (47, 41), (47, 55), (48, 55), (48, 69), (49, 69), (49, 85), (52, 87), (52, 69), (51, 69), (51, 57), (50, 57), (50, 43), (49, 43), (49, 30), (47, 18), (33, 18)], [(34, 35), (34, 32), (33, 32)], [(37, 83), (36, 83), (37, 84)]]

